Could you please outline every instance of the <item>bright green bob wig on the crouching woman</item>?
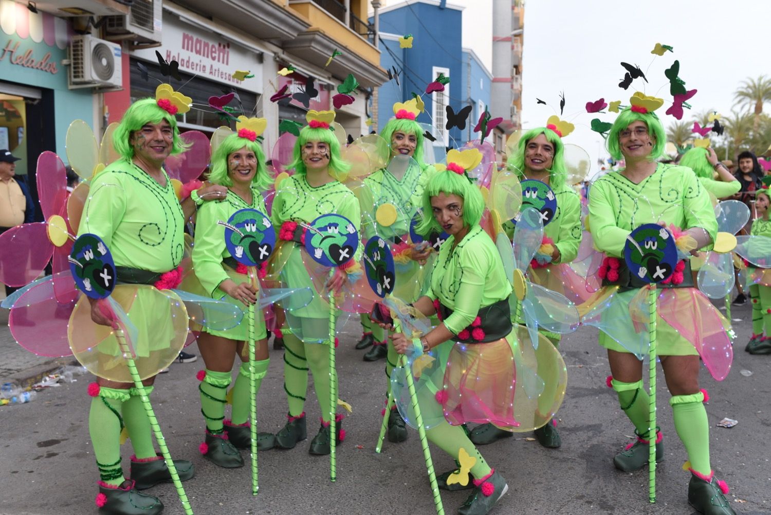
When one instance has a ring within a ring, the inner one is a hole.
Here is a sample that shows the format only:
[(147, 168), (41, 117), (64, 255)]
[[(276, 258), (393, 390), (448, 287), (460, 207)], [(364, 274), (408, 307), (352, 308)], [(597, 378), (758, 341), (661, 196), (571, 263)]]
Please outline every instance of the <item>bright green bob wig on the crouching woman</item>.
[(479, 188), (473, 185), (466, 174), (444, 170), (433, 174), (423, 189), (423, 220), (416, 228), (419, 234), (443, 232), (442, 226), (433, 217), (431, 206), (431, 197), (436, 197), (439, 193), (463, 198), (463, 225), (473, 227), (479, 224), (484, 212), (484, 198)]

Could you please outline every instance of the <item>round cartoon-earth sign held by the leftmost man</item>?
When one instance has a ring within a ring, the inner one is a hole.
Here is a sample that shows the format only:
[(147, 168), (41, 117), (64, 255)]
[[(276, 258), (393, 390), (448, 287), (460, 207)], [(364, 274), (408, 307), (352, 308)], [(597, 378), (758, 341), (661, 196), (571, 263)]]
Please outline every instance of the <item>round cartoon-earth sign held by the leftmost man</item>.
[(72, 245), (69, 271), (78, 289), (91, 299), (105, 299), (115, 289), (113, 255), (95, 234), (80, 235)]

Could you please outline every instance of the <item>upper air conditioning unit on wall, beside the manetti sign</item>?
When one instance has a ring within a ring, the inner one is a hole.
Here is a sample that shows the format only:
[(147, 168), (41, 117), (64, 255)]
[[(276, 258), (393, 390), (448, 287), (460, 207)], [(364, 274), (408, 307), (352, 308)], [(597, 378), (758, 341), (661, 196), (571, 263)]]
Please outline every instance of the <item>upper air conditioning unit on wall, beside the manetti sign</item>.
[(129, 39), (137, 46), (160, 46), (163, 0), (134, 0), (125, 16), (107, 16), (106, 37)]

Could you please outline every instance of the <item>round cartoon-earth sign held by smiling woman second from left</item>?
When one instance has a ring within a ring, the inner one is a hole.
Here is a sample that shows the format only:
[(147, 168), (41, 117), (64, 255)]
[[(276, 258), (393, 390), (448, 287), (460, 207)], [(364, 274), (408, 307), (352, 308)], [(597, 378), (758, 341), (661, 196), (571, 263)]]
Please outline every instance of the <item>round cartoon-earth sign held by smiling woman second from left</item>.
[(261, 265), (276, 246), (271, 220), (257, 209), (239, 209), (227, 222), (217, 223), (225, 226), (227, 252), (242, 265)]

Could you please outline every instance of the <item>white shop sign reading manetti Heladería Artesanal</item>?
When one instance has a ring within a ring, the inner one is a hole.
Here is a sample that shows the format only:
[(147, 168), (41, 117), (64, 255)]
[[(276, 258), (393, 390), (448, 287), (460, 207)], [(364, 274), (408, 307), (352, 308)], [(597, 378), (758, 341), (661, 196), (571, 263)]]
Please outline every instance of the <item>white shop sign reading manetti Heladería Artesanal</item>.
[[(262, 93), (262, 65), (253, 50), (231, 43), (217, 36), (216, 32), (197, 29), (169, 12), (163, 12), (163, 42), (160, 48), (133, 50), (131, 55), (157, 63), (156, 50), (167, 61), (180, 63), (182, 71)], [(236, 70), (249, 71), (254, 77), (237, 80), (233, 77)]]

